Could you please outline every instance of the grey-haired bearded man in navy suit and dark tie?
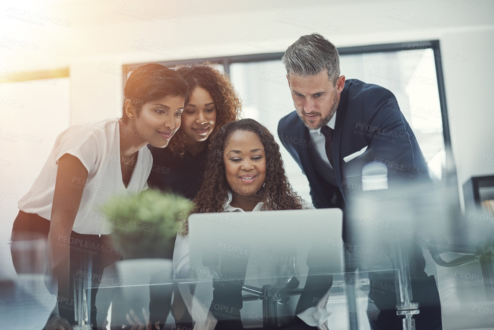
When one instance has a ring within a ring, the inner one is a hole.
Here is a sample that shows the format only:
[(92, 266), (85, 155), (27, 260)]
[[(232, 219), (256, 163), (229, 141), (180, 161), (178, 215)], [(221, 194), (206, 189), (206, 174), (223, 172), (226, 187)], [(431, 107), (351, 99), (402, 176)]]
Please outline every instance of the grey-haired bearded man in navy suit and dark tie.
[[(377, 182), (377, 189), (400, 189), (407, 182), (430, 181), (427, 163), (395, 96), (377, 85), (345, 81), (340, 76), (338, 51), (327, 39), (317, 33), (302, 36), (288, 47), (282, 60), (296, 111), (280, 120), (280, 140), (307, 176), (314, 206), (343, 209), (343, 239), (359, 244), (349, 221), (355, 196), (366, 190), (364, 166), (376, 161), (385, 166), (387, 180)], [(420, 314), (413, 317), (416, 329), (442, 329), (434, 277), (424, 272), (421, 248), (408, 247), (413, 299), (420, 308)], [(347, 265), (347, 269), (358, 266)], [(318, 274), (320, 270), (319, 266)], [(394, 286), (389, 272), (370, 272), (369, 277), (371, 283)], [(325, 280), (319, 275), (311, 281), (307, 280), (296, 314), (315, 306), (330, 288), (332, 276)], [(396, 291), (370, 292), (369, 297), (380, 310), (377, 318), (370, 318), (372, 329), (402, 328), (403, 317), (396, 315)]]

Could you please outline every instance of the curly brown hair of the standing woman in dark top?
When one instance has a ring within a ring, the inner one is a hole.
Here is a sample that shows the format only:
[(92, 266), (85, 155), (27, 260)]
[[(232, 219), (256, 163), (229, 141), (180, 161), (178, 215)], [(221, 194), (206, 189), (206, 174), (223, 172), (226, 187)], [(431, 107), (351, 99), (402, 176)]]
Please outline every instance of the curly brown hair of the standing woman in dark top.
[[(178, 65), (173, 69), (189, 85), (190, 95), (196, 87), (204, 88), (212, 97), (216, 106), (216, 124), (207, 138), (207, 143), (212, 141), (214, 135), (226, 123), (240, 118), (242, 103), (240, 102), (230, 79), (216, 70), (211, 63), (195, 63), (191, 65)], [(187, 135), (183, 130), (178, 130), (173, 139), (168, 143), (168, 149), (175, 155), (183, 155)]]

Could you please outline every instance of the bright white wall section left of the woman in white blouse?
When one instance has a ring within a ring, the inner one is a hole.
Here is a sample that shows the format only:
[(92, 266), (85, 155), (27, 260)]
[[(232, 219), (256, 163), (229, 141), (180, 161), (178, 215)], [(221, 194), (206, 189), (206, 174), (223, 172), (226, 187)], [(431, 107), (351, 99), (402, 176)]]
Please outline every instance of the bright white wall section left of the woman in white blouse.
[(69, 78), (0, 84), (0, 278), (15, 275), (7, 241), (17, 203), (70, 125), (69, 92)]

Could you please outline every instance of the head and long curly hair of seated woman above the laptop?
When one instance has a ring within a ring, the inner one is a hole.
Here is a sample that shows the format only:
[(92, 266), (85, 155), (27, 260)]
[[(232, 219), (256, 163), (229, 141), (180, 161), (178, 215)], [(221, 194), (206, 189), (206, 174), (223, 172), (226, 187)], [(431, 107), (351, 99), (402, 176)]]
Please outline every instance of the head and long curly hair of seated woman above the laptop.
[(257, 121), (247, 118), (223, 126), (210, 149), (192, 213), (302, 208), (302, 199), (288, 183), (280, 146)]

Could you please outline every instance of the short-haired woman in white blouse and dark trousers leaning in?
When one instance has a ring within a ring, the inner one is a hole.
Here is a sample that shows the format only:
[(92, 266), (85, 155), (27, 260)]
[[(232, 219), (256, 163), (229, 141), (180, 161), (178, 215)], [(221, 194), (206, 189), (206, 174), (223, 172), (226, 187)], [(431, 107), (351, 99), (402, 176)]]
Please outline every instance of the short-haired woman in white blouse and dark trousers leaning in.
[[(122, 251), (109, 241), (113, 228), (101, 220), (100, 206), (111, 196), (135, 197), (148, 188), (153, 160), (146, 145), (168, 144), (180, 127), (188, 94), (175, 71), (142, 65), (126, 82), (122, 118), (88, 121), (58, 135), (41, 174), (18, 203), (12, 229), (13, 248), (33, 236), (47, 241), (48, 271), (58, 282), (58, 313), (52, 313), (46, 328), (75, 324), (74, 276), (97, 287), (104, 268), (121, 258)], [(16, 271), (25, 272), (26, 259), (13, 256)], [(93, 307), (95, 293), (91, 290)], [(93, 329), (96, 310), (91, 308)]]

